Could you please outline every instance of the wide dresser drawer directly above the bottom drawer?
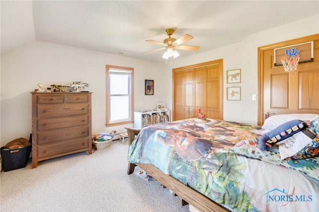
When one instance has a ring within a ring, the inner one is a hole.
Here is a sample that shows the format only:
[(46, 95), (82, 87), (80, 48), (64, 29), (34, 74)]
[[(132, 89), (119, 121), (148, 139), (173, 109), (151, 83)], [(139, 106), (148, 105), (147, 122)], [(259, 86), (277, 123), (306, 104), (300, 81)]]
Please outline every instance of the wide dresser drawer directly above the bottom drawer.
[(74, 127), (61, 130), (38, 132), (38, 145), (83, 138), (89, 136), (89, 126)]

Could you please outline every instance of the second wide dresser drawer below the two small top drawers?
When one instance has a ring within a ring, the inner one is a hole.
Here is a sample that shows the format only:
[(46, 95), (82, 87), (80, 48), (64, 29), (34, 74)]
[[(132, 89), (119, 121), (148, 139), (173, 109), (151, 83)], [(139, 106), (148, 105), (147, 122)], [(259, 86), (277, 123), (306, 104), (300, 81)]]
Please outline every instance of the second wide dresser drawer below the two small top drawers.
[(65, 129), (89, 125), (89, 115), (76, 115), (59, 118), (42, 118), (37, 120), (38, 131)]

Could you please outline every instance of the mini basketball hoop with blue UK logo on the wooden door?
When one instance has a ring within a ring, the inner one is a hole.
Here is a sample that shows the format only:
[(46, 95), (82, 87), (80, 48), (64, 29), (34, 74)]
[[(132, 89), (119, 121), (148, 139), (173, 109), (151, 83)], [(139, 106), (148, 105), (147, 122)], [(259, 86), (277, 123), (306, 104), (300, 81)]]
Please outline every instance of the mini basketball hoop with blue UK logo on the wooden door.
[(274, 49), (275, 66), (286, 72), (296, 71), (299, 63), (314, 61), (314, 41)]

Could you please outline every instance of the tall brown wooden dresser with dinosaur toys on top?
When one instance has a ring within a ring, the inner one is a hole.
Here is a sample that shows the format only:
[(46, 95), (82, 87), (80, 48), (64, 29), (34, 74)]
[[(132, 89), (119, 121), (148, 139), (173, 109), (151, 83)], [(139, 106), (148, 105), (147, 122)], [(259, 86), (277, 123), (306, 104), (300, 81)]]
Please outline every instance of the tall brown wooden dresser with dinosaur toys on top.
[(32, 94), (32, 168), (38, 161), (92, 153), (91, 93)]

